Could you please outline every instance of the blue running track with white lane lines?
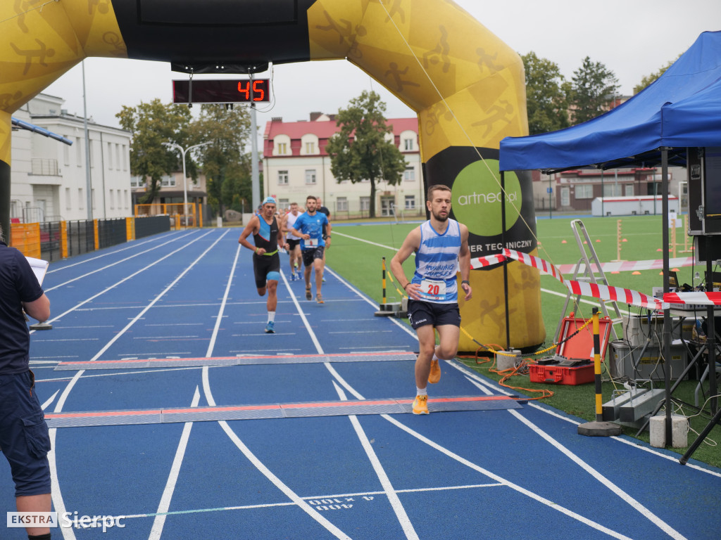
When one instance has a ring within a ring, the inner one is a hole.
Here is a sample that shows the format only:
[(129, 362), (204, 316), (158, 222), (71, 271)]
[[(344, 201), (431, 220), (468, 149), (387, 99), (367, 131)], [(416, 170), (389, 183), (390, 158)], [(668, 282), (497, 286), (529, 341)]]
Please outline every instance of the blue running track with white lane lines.
[(71, 521), (53, 538), (720, 537), (719, 469), (578, 436), (578, 418), (457, 361), (429, 388), (431, 414), (410, 414), (415, 333), (332, 268), (318, 305), (282, 255), (266, 334), (238, 234), (174, 231), (50, 265), (53, 329), (32, 334), (31, 362), (54, 510)]

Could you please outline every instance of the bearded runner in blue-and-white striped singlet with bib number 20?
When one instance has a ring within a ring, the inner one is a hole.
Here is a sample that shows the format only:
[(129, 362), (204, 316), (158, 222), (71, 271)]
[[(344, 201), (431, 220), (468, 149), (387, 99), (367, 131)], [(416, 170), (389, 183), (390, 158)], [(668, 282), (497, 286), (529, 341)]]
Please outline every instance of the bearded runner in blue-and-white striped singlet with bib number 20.
[[(428, 188), (426, 207), (430, 220), (408, 233), (391, 260), (391, 271), (408, 294), (408, 320), (418, 336), (420, 352), (415, 361), (416, 397), (413, 413), (428, 414), (428, 382), (441, 380), (439, 359), (453, 359), (458, 352), (461, 314), (458, 306), (456, 274), (461, 274), (464, 300), (471, 299), (471, 251), (468, 228), (451, 220), (451, 189), (436, 185)], [(415, 252), (415, 274), (410, 281), (403, 271), (404, 261)], [(435, 345), (438, 330), (440, 343)]]

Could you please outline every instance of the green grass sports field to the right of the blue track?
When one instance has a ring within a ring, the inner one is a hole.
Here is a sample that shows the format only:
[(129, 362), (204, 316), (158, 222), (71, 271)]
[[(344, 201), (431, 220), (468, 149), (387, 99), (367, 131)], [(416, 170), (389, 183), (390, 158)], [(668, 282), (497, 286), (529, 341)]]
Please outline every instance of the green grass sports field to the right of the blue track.
[[(593, 248), (596, 250), (598, 259), (601, 262), (616, 260), (618, 256), (617, 242), (619, 222), (615, 217), (587, 217), (582, 220), (588, 236), (592, 240)], [(390, 259), (395, 251), (401, 246), (407, 233), (416, 227), (416, 223), (394, 223), (394, 224), (348, 224), (336, 222), (333, 228), (332, 248), (327, 252), (327, 264), (337, 273), (348, 279), (355, 287), (367, 294), (369, 297), (381, 302), (381, 260), (386, 258), (386, 266), (389, 266)], [(624, 217), (620, 222), (621, 238), (624, 241), (620, 243), (621, 259), (626, 261), (645, 261), (651, 259), (660, 259), (663, 257), (662, 246), (663, 238), (661, 232), (660, 215), (646, 215)], [(681, 228), (677, 229), (677, 248), (676, 257), (688, 257), (693, 253), (682, 253), (684, 250), (684, 233)], [(575, 264), (581, 258), (580, 249), (576, 243), (575, 236), (571, 227), (571, 220), (567, 217), (554, 217), (552, 219), (539, 220), (537, 223), (537, 237), (540, 242), (539, 256), (555, 265)], [(583, 237), (582, 237), (583, 238)], [(563, 241), (565, 240), (565, 242)], [(691, 246), (691, 241), (688, 241)], [(673, 258), (673, 253), (670, 253)], [(412, 261), (407, 261), (404, 265), (407, 276), (412, 275)], [(694, 280), (694, 274), (698, 271), (701, 276), (704, 275), (704, 267), (686, 266), (678, 268), (678, 279), (681, 283), (697, 284), (698, 280)], [(570, 279), (569, 275), (565, 275)], [(650, 295), (653, 287), (661, 287), (663, 277), (660, 270), (645, 270), (640, 274), (632, 274), (631, 272), (620, 272), (619, 274), (606, 274), (606, 279), (610, 285), (614, 287), (624, 287), (634, 289), (639, 292)], [(551, 346), (557, 340), (554, 336), (559, 320), (568, 313), (563, 313), (563, 305), (567, 289), (552, 276), (541, 276), (541, 309), (546, 326), (546, 346)], [(401, 293), (394, 289), (394, 284), (388, 282), (387, 302), (398, 302)], [(578, 307), (577, 316), (585, 318), (590, 317), (591, 308), (598, 305), (598, 302), (592, 298), (583, 298)], [(568, 310), (572, 309), (572, 305)], [(623, 312), (640, 312), (639, 308), (627, 307), (619, 305), (619, 309)], [(609, 308), (610, 310), (610, 308)], [(622, 329), (620, 325), (616, 325), (616, 332), (619, 338), (622, 337)], [(613, 335), (611, 335), (613, 339)], [(530, 357), (532, 358), (532, 356)], [(477, 369), (492, 379), (500, 379), (499, 376), (489, 371), (490, 363), (476, 364), (473, 358), (463, 359), (467, 365)], [(611, 399), (614, 391), (622, 391), (624, 388), (620, 382), (611, 381), (610, 377), (604, 372), (603, 382), (603, 402)], [(570, 386), (565, 384), (539, 384), (530, 382), (527, 376), (513, 377), (508, 382), (516, 387), (523, 387), (531, 390), (548, 389), (554, 392), (552, 397), (545, 398), (543, 401), (567, 413), (576, 415), (585, 420), (595, 420), (595, 395), (593, 384), (581, 384), (578, 386)], [(663, 381), (654, 382), (654, 387), (663, 387)], [(707, 425), (710, 413), (708, 403), (700, 415), (697, 415), (694, 408), (684, 405), (682, 402), (694, 402), (694, 389), (697, 381), (686, 380), (681, 383), (674, 392), (674, 400), (678, 403), (674, 404), (675, 413), (683, 413), (691, 417), (691, 429), (696, 432), (701, 431)], [(721, 383), (719, 384), (721, 387)], [(705, 388), (708, 388), (706, 383)], [(528, 392), (524, 392), (529, 395)], [(708, 397), (708, 396), (707, 396)], [(637, 429), (624, 428), (624, 433), (629, 436), (635, 436)], [(639, 437), (643, 441), (648, 441), (648, 432), (642, 433)], [(689, 444), (696, 439), (694, 431), (689, 432)], [(712, 464), (715, 467), (721, 467), (721, 450), (717, 446), (717, 441), (721, 442), (721, 427), (715, 426), (704, 444), (694, 453), (693, 458), (699, 461)], [(674, 449), (683, 454), (686, 449)]]

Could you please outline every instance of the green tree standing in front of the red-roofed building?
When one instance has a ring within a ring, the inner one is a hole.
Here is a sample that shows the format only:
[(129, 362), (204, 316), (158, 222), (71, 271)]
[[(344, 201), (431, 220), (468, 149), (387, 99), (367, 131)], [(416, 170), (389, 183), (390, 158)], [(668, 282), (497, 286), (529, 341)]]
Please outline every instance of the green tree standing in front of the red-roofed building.
[(371, 217), (376, 217), (376, 182), (384, 180), (394, 186), (403, 178), (406, 161), (397, 146), (386, 140), (392, 126), (386, 125), (386, 104), (373, 91), (363, 91), (351, 99), (347, 109), (340, 109), (336, 125), (340, 131), (328, 140), (330, 171), (338, 183), (371, 183)]

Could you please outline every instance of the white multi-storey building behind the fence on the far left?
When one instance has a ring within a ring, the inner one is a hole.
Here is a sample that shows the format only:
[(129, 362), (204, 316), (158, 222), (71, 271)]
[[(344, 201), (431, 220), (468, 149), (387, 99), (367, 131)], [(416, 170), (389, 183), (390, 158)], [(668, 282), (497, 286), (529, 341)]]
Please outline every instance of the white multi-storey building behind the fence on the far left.
[[(12, 134), (10, 217), (19, 222), (86, 220), (84, 119), (62, 109), (64, 100), (38, 94), (13, 117), (69, 139), (72, 145), (28, 130)], [(131, 133), (88, 120), (92, 217), (133, 215)]]

